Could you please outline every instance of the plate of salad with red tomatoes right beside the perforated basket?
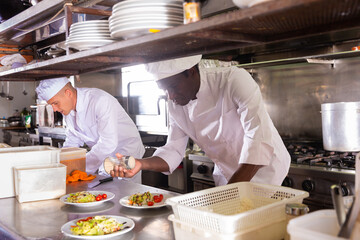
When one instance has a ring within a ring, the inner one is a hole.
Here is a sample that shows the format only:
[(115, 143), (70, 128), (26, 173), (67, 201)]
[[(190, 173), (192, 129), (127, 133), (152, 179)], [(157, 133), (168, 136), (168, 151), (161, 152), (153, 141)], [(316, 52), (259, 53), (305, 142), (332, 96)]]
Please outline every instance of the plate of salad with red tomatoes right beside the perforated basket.
[(159, 208), (164, 207), (166, 195), (161, 193), (135, 193), (120, 199), (120, 204), (129, 208)]

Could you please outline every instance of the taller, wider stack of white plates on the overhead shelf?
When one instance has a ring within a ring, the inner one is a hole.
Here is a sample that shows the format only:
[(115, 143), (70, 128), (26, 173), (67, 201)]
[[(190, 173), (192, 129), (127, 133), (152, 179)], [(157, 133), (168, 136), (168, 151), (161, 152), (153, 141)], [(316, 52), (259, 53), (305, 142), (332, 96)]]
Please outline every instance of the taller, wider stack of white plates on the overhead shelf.
[(113, 6), (113, 38), (128, 39), (184, 23), (182, 0), (124, 0)]

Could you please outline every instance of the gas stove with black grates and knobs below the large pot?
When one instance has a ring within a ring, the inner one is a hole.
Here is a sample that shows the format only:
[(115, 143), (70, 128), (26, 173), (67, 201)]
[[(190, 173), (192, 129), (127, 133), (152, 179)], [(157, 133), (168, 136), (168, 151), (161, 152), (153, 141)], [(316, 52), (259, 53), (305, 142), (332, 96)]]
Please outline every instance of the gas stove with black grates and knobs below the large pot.
[(310, 210), (333, 208), (330, 187), (338, 184), (343, 196), (355, 188), (357, 152), (325, 151), (320, 143), (288, 143), (291, 166), (283, 186), (309, 192), (304, 199)]

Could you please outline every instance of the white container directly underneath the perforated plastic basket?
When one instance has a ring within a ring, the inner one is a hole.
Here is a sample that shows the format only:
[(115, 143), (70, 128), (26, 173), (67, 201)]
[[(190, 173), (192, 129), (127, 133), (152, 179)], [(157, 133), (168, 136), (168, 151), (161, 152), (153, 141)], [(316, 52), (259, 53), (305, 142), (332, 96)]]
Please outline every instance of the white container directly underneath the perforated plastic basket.
[(216, 233), (182, 222), (173, 214), (168, 219), (173, 222), (176, 240), (281, 240), (286, 230), (286, 221), (280, 221), (267, 225), (259, 224), (254, 228), (236, 233)]

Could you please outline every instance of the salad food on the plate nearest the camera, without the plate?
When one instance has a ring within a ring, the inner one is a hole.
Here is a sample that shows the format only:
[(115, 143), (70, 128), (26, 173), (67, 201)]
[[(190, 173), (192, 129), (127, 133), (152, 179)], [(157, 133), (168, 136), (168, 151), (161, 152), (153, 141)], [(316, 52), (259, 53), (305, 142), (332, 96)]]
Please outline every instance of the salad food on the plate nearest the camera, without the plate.
[(112, 217), (94, 216), (78, 220), (70, 230), (75, 235), (105, 235), (121, 231), (125, 223), (119, 223)]

